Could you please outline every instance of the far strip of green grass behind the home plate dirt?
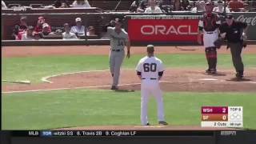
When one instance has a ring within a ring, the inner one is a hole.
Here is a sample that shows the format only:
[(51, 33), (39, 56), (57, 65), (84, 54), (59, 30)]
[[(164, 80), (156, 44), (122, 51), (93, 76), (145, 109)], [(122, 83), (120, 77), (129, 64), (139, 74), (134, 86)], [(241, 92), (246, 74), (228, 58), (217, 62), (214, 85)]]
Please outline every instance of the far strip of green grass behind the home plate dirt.
[[(132, 55), (126, 59), (122, 68), (134, 69), (138, 60), (144, 55)], [(195, 67), (205, 68), (206, 59), (204, 54), (158, 54), (166, 67)], [(246, 67), (256, 67), (255, 54), (244, 54), (243, 61)], [(81, 70), (105, 70), (108, 69), (108, 56), (41, 56), (29, 58), (2, 58), (2, 79), (7, 80), (30, 80), (41, 82), (42, 77), (74, 72)], [(219, 68), (233, 68), (230, 54), (218, 55)]]

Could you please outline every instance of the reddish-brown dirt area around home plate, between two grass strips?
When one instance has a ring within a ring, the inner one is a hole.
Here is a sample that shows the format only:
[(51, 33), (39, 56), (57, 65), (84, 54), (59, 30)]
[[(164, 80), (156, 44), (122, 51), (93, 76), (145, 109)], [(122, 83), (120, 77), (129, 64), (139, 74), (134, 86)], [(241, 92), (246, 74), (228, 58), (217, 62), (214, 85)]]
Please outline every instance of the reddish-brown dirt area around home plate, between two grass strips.
[[(56, 74), (45, 78), (48, 82), (38, 84), (15, 84), (3, 86), (8, 92), (26, 92), (65, 89), (104, 89), (110, 90), (112, 77), (109, 70), (92, 70), (70, 74)], [(163, 91), (194, 91), (194, 92), (255, 92), (256, 74), (254, 70), (246, 70), (246, 77), (236, 81), (233, 70), (222, 70), (218, 74), (206, 74), (203, 70), (167, 69), (160, 85)], [(120, 91), (140, 90), (141, 81), (134, 70), (121, 70), (119, 79)]]

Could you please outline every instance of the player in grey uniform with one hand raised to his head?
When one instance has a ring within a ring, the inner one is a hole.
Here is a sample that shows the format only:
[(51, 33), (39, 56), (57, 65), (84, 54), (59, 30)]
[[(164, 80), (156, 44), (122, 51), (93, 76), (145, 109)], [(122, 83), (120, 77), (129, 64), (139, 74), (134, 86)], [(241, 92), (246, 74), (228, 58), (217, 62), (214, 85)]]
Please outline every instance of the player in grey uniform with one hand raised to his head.
[(113, 77), (111, 90), (118, 90), (120, 68), (125, 57), (125, 46), (127, 47), (127, 58), (130, 58), (130, 41), (126, 30), (122, 29), (121, 19), (115, 18), (114, 27), (107, 27), (110, 34), (110, 73)]

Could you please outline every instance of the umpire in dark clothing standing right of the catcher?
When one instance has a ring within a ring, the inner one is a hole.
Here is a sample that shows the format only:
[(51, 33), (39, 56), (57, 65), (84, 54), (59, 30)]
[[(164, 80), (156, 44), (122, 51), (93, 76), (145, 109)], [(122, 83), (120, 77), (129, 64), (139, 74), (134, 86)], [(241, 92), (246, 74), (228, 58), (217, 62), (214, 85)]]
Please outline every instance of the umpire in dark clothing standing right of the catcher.
[(226, 37), (227, 48), (230, 47), (232, 54), (232, 61), (234, 68), (237, 72), (236, 78), (241, 79), (243, 77), (244, 66), (242, 63), (241, 52), (242, 47), (246, 47), (246, 31), (247, 23), (235, 21), (232, 14), (226, 15), (226, 22), (223, 22), (220, 26), (220, 32), (222, 38)]

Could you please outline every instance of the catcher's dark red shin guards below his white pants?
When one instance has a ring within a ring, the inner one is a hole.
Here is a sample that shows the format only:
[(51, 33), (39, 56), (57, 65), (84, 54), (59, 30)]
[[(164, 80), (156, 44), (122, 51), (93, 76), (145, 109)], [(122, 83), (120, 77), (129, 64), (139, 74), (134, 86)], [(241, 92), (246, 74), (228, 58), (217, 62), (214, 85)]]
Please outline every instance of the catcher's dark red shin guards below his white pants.
[(208, 62), (209, 70), (216, 71), (217, 50), (215, 47), (206, 47), (206, 59)]

